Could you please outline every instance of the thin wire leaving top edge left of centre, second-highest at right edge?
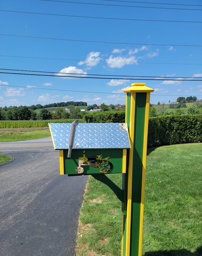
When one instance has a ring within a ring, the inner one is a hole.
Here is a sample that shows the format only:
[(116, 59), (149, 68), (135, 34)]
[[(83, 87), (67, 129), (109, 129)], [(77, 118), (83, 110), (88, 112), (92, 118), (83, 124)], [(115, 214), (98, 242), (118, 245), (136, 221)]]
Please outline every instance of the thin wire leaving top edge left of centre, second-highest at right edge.
[(118, 5), (118, 4), (98, 4), (98, 3), (86, 3), (86, 2), (72, 2), (61, 0), (40, 0), (46, 2), (67, 3), (67, 4), (88, 4), (88, 5), (102, 5), (102, 6), (115, 6), (115, 7), (134, 7), (134, 8), (149, 8), (149, 9), (168, 9), (168, 10), (188, 10), (188, 11), (202, 11), (202, 9), (187, 9), (187, 8), (171, 8), (171, 7), (153, 7), (153, 6), (135, 6), (135, 5)]

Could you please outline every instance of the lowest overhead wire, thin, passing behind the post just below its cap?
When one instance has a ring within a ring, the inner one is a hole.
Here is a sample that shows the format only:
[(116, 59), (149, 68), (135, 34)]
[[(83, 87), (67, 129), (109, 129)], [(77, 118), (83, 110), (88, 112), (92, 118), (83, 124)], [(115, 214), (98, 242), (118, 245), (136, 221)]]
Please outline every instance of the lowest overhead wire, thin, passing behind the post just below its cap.
[[(7, 87), (19, 87), (19, 88), (25, 88), (25, 89), (36, 89), (36, 90), (51, 90), (51, 91), (63, 91), (63, 92), (83, 92), (83, 93), (99, 93), (99, 94), (121, 94), (123, 93), (116, 93), (116, 92), (91, 92), (91, 91), (78, 91), (78, 90), (64, 90), (64, 89), (51, 89), (51, 88), (43, 88), (43, 87), (25, 87), (25, 86), (18, 86), (18, 85), (1, 85), (1, 86), (7, 86)], [(152, 96), (189, 96), (189, 94), (185, 95), (173, 95), (173, 94), (152, 94)], [(202, 95), (196, 95), (197, 97), (201, 97)]]

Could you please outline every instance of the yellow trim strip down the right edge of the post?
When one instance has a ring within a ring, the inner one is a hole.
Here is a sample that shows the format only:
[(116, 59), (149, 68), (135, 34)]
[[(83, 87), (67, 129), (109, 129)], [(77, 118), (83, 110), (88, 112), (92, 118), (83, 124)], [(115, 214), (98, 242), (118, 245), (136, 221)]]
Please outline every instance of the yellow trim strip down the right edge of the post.
[(147, 158), (147, 137), (148, 137), (148, 123), (149, 123), (149, 102), (150, 93), (147, 93), (146, 112), (144, 119), (144, 142), (143, 142), (143, 158), (142, 158), (142, 192), (140, 205), (140, 240), (139, 240), (139, 256), (142, 255), (142, 233), (143, 233), (143, 213), (144, 213), (144, 191), (146, 180), (146, 158)]

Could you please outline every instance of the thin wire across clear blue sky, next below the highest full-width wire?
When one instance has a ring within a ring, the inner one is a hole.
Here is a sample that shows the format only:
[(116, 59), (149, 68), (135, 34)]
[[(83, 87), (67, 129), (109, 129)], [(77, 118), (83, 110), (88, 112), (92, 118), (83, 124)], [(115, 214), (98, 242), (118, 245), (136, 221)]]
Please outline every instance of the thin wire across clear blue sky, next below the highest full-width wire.
[(202, 45), (196, 45), (196, 44), (195, 45), (193, 45), (193, 44), (192, 45), (190, 45), (190, 44), (142, 44), (142, 43), (104, 42), (104, 41), (78, 40), (78, 39), (40, 37), (40, 36), (22, 36), (22, 35), (10, 35), (10, 34), (0, 34), (0, 36), (14, 36), (14, 37), (50, 39), (50, 40), (71, 41), (71, 42), (85, 42), (85, 43), (101, 43), (101, 44), (154, 45), (154, 46), (191, 46), (191, 47), (201, 47), (202, 46)]

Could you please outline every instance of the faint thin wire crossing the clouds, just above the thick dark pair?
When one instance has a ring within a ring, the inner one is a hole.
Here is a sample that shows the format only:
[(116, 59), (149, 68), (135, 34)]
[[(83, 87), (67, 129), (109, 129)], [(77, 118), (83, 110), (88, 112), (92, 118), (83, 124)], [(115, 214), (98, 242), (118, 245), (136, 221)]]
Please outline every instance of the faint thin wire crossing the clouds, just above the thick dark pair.
[[(46, 57), (33, 57), (33, 56), (17, 56), (17, 55), (0, 55), (0, 57), (11, 57), (11, 58), (28, 58), (28, 59), (45, 59), (45, 60), (71, 60), (71, 61), (80, 61), (80, 59), (66, 59), (66, 58), (46, 58)], [(91, 60), (91, 62), (106, 62), (105, 60)], [(116, 61), (108, 61), (116, 62)], [(130, 63), (128, 61), (119, 61), (120, 63)], [(177, 63), (177, 62), (143, 62), (138, 61), (140, 64), (165, 64), (165, 65), (202, 65), (202, 63)]]

